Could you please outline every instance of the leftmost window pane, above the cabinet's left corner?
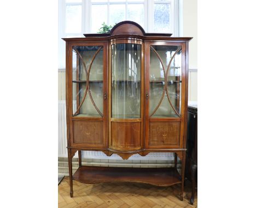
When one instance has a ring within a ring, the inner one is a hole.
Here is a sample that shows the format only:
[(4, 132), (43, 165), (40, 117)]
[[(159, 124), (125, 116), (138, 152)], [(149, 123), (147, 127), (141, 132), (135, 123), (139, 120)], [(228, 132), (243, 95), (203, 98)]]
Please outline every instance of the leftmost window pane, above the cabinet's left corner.
[(66, 6), (66, 33), (80, 33), (82, 26), (82, 5)]

